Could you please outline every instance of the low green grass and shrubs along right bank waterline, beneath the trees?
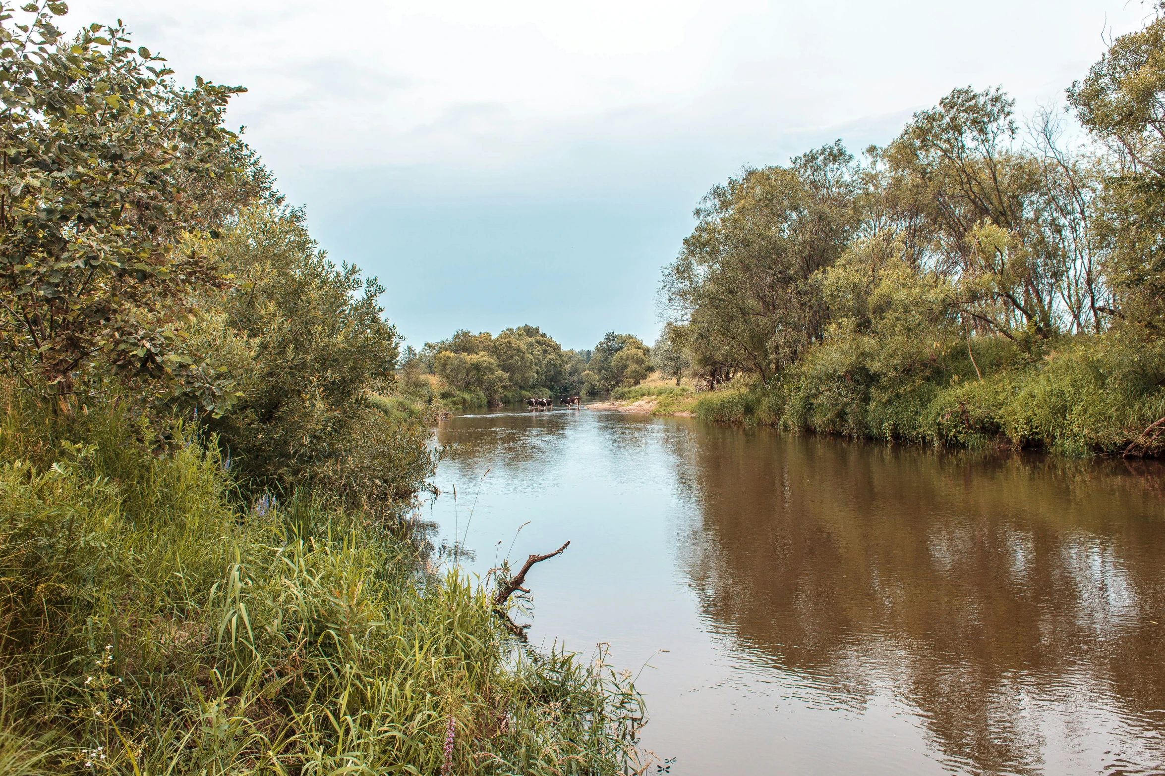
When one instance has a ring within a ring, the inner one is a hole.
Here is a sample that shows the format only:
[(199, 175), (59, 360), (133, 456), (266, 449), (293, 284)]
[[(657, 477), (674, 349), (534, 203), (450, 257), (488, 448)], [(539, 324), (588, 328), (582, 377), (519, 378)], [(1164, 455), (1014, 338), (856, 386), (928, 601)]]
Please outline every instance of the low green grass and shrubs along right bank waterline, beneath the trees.
[(1036, 357), (998, 340), (933, 344), (891, 354), (827, 341), (769, 384), (746, 378), (702, 394), (696, 414), (940, 447), (1160, 451), (1165, 361), (1144, 343), (1062, 337)]

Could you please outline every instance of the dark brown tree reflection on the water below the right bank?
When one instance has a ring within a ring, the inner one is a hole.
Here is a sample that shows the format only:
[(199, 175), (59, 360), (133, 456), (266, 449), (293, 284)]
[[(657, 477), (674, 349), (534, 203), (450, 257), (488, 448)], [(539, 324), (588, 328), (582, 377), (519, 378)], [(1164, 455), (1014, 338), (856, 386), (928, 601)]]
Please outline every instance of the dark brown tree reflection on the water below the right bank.
[(677, 547), (748, 658), (859, 710), (892, 686), (948, 764), (1060, 773), (1116, 735), (1114, 773), (1162, 766), (1156, 467), (672, 441), (701, 517)]

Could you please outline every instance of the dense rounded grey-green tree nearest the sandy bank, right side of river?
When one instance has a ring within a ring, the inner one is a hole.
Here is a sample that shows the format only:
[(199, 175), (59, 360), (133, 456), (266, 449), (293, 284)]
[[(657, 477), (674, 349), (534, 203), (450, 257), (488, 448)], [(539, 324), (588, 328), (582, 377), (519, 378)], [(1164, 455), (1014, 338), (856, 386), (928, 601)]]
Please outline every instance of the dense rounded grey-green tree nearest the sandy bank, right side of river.
[(669, 319), (718, 362), (770, 379), (825, 330), (814, 276), (848, 242), (855, 201), (853, 157), (840, 141), (714, 186), (664, 270)]

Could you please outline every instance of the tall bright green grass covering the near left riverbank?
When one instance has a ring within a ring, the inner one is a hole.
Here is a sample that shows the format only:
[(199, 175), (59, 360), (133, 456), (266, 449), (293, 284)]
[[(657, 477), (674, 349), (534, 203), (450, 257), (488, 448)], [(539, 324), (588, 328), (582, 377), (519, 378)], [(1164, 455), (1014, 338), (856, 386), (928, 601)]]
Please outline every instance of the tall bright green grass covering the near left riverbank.
[(489, 591), (383, 524), (305, 493), (240, 503), (212, 446), (183, 432), (153, 458), (115, 401), (3, 401), (3, 773), (633, 767), (627, 678), (517, 649)]

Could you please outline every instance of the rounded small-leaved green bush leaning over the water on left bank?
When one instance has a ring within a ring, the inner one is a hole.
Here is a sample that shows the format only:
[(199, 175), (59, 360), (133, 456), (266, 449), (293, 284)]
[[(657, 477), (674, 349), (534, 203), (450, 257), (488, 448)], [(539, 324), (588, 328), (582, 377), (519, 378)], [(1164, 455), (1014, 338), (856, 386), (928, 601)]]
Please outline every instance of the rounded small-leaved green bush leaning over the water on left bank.
[(243, 398), (205, 422), (241, 480), (253, 490), (310, 486), (402, 515), (432, 462), (424, 429), (386, 423), (368, 404), (396, 378), (383, 287), (329, 262), (297, 211), (248, 208), (213, 251), (239, 284), (205, 299), (218, 315), (195, 339), (240, 376)]

